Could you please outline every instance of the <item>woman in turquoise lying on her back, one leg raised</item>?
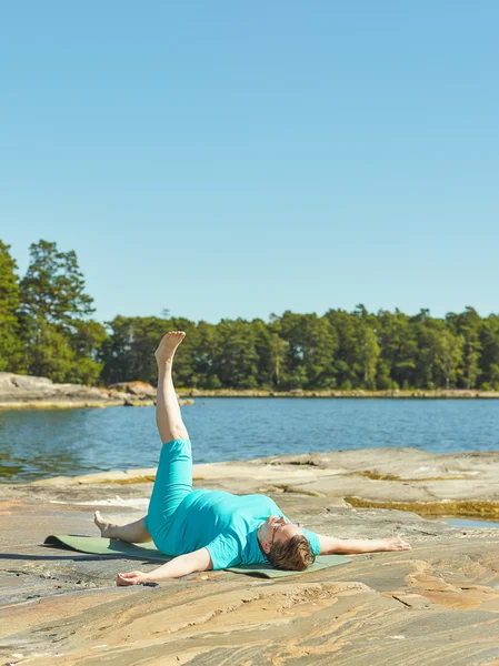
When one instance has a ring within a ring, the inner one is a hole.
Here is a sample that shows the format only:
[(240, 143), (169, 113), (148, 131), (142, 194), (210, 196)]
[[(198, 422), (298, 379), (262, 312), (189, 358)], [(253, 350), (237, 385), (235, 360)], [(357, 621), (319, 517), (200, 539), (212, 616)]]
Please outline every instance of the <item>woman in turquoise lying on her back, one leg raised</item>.
[(338, 539), (291, 523), (266, 495), (232, 495), (192, 488), (191, 445), (171, 376), (173, 356), (186, 333), (167, 333), (158, 362), (156, 422), (163, 442), (148, 515), (113, 525), (96, 513), (101, 536), (129, 543), (153, 541), (173, 559), (149, 572), (118, 574), (118, 585), (178, 578), (194, 572), (238, 564), (270, 563), (276, 568), (305, 571), (316, 555), (407, 551), (400, 537)]

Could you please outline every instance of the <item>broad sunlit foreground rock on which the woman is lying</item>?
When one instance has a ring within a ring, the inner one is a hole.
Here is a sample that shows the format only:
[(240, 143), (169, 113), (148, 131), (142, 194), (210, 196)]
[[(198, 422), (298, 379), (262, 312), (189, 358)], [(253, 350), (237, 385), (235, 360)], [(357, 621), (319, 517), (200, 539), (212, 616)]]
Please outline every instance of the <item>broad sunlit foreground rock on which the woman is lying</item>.
[(457, 527), (415, 508), (452, 514), (466, 505), (463, 515), (497, 518), (499, 452), (385, 448), (196, 465), (196, 487), (267, 493), (319, 533), (395, 533), (412, 544), (292, 578), (213, 572), (118, 588), (117, 571), (153, 565), (41, 545), (48, 534), (94, 535), (97, 507), (111, 519), (137, 519), (154, 474), (0, 486), (2, 663), (498, 663), (499, 529)]

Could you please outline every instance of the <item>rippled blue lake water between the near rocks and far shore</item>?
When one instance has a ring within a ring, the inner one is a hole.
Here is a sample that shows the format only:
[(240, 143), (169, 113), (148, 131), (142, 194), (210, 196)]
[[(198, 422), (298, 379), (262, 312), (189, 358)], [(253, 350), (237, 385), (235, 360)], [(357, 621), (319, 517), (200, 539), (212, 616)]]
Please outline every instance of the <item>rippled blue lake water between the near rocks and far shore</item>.
[[(207, 398), (182, 407), (194, 462), (379, 446), (499, 448), (499, 401)], [(0, 411), (0, 481), (153, 467), (153, 407)]]

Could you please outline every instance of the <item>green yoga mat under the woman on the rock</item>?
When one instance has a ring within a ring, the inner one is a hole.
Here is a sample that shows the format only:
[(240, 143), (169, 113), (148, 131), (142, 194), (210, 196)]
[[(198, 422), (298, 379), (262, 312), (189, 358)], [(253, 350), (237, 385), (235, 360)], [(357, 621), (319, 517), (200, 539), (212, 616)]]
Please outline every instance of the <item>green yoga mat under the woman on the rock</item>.
[[(100, 536), (72, 536), (72, 535), (50, 535), (43, 542), (49, 546), (59, 548), (70, 548), (80, 553), (90, 553), (92, 555), (103, 555), (108, 557), (119, 557), (132, 559), (152, 559), (153, 562), (168, 562), (171, 557), (167, 557), (160, 553), (152, 543), (127, 544), (114, 538), (102, 538)], [(297, 574), (308, 574), (318, 572), (337, 564), (350, 562), (348, 557), (342, 555), (319, 555), (316, 562), (306, 572), (283, 572), (275, 569), (265, 564), (241, 564), (240, 566), (231, 566), (227, 571), (236, 574), (247, 574), (249, 576), (263, 576), (266, 578), (280, 578), (281, 576), (296, 576)]]

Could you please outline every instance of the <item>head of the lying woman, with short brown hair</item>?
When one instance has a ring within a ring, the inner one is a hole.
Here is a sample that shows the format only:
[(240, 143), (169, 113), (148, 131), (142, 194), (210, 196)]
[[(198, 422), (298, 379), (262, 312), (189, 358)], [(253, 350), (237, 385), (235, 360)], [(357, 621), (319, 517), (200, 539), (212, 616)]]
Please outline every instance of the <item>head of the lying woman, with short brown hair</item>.
[(316, 559), (301, 527), (283, 517), (267, 518), (260, 525), (259, 541), (275, 568), (303, 572)]

